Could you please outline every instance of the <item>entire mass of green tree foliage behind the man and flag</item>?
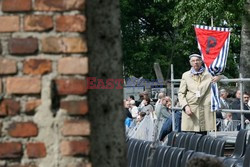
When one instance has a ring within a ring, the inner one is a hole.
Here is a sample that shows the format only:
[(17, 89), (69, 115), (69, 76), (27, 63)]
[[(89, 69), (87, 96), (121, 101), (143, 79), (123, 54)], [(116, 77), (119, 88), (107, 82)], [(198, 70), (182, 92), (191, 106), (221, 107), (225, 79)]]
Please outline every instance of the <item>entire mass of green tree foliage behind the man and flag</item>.
[(244, 0), (121, 0), (124, 75), (155, 78), (159, 62), (165, 78), (170, 64), (175, 78), (190, 68), (188, 56), (198, 53), (194, 24), (232, 28), (226, 75), (237, 77)]

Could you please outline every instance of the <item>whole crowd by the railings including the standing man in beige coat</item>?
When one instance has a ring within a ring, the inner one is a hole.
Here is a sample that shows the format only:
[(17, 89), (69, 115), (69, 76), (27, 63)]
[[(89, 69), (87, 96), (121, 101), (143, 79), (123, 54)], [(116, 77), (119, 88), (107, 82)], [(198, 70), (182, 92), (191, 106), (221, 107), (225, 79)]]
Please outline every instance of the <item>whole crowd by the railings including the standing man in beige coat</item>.
[[(158, 94), (156, 102), (147, 91), (140, 93), (139, 100), (135, 101), (134, 96), (124, 100), (126, 133), (129, 138), (164, 141), (172, 131), (173, 114), (176, 131), (205, 135), (213, 130), (235, 131), (241, 128), (240, 113), (211, 112), (211, 88), (222, 76), (210, 74), (203, 66), (200, 55), (192, 54), (189, 59), (191, 69), (182, 75), (176, 101), (173, 102), (164, 91)], [(240, 90), (236, 91), (235, 98), (230, 99), (226, 89), (220, 89), (219, 94), (221, 109), (241, 109)], [(180, 110), (172, 110), (172, 106)], [(250, 109), (247, 92), (243, 93), (243, 109)], [(250, 112), (243, 114), (243, 117), (244, 128), (250, 129)]]

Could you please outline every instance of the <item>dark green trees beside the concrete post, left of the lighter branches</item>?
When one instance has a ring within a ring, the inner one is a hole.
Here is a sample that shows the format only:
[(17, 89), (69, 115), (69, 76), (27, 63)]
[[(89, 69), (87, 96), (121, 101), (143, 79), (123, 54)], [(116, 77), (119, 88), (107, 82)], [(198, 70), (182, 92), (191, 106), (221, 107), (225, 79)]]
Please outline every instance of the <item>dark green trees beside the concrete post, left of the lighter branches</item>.
[(153, 64), (159, 62), (166, 77), (173, 55), (174, 4), (151, 1), (121, 1), (124, 75), (155, 78)]

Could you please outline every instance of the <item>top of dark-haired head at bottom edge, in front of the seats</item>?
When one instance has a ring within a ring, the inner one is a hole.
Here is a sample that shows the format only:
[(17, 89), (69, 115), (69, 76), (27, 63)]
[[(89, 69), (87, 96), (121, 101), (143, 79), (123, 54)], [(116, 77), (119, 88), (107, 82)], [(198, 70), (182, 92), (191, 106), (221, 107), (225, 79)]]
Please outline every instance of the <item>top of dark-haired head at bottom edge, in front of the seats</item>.
[(223, 163), (216, 157), (194, 157), (187, 162), (187, 167), (223, 167)]

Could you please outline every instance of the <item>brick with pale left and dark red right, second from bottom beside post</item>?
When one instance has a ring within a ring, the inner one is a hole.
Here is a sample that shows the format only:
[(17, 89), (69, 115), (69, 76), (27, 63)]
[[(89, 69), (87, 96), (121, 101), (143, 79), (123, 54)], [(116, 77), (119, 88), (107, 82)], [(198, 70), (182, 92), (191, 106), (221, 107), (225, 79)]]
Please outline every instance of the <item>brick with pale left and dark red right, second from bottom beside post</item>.
[(81, 141), (62, 141), (60, 150), (61, 154), (65, 156), (88, 155), (90, 143), (87, 139)]

